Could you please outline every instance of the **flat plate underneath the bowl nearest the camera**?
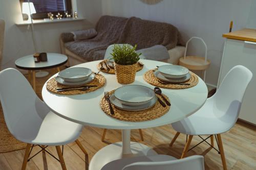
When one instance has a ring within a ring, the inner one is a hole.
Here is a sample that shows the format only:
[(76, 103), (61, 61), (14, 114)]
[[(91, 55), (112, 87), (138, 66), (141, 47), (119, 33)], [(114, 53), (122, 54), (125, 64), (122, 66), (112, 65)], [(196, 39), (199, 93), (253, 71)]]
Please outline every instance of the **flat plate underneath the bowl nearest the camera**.
[(123, 105), (119, 100), (115, 98), (114, 93), (110, 95), (110, 101), (115, 107), (119, 109), (127, 110), (127, 111), (140, 111), (140, 110), (146, 110), (155, 106), (155, 104), (157, 103), (157, 96), (155, 96), (149, 103), (145, 105), (140, 105), (140, 106)]

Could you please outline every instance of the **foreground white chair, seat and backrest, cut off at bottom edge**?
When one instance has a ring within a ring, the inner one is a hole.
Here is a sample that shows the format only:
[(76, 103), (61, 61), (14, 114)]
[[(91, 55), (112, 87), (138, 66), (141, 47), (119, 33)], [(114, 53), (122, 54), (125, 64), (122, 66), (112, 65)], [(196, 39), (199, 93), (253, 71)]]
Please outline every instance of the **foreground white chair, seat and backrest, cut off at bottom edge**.
[(176, 159), (169, 155), (140, 156), (114, 160), (101, 170), (204, 170), (204, 157), (199, 155)]

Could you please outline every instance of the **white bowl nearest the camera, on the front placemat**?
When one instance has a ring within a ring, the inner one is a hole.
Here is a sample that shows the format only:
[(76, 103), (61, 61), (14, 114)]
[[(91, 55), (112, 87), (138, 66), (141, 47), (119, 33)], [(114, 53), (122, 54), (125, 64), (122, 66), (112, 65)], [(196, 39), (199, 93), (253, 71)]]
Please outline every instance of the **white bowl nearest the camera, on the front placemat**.
[(119, 87), (114, 92), (115, 98), (127, 106), (140, 106), (150, 102), (155, 92), (141, 85), (127, 85)]

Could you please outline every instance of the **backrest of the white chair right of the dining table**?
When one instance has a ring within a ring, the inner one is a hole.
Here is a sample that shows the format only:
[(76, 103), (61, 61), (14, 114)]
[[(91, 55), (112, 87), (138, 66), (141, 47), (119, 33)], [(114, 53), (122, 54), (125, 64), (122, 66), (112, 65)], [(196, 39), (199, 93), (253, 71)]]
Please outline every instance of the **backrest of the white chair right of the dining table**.
[(252, 73), (248, 68), (242, 65), (234, 66), (211, 97), (214, 99), (214, 108), (224, 113), (218, 116), (230, 124), (229, 128), (237, 122), (244, 93), (251, 78)]

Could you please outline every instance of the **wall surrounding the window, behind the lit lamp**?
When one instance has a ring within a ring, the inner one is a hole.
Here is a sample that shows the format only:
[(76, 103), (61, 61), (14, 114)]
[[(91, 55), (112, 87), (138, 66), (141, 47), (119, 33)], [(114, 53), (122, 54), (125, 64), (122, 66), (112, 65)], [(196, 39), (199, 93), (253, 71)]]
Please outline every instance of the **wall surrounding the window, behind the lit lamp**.
[[(86, 20), (34, 26), (39, 52), (59, 53), (60, 33), (93, 27), (102, 15), (101, 0), (76, 1), (78, 17), (84, 17)], [(17, 58), (34, 53), (30, 29), (28, 30), (27, 26), (15, 25), (15, 22), (22, 20), (19, 0), (0, 0), (0, 18), (6, 22), (2, 69), (15, 67), (14, 61)]]

